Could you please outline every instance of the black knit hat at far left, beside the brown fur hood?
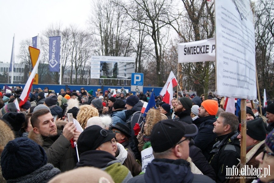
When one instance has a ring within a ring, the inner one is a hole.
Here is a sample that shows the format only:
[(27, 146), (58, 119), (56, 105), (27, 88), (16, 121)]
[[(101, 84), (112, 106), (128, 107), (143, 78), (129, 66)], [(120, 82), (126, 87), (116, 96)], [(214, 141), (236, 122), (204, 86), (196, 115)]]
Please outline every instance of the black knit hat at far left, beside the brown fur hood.
[(5, 113), (2, 118), (9, 122), (14, 131), (21, 130), (22, 124), (26, 121), (23, 113)]

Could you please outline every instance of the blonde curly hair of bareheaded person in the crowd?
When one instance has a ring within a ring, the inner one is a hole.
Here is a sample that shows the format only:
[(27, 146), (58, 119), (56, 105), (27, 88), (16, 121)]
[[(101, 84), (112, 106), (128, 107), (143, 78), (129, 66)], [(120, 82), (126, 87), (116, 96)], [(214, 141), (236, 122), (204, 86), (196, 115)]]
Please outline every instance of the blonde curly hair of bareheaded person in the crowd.
[(81, 127), (84, 129), (86, 127), (87, 120), (94, 116), (99, 117), (99, 112), (95, 107), (90, 105), (82, 105), (79, 107), (76, 120), (79, 121)]

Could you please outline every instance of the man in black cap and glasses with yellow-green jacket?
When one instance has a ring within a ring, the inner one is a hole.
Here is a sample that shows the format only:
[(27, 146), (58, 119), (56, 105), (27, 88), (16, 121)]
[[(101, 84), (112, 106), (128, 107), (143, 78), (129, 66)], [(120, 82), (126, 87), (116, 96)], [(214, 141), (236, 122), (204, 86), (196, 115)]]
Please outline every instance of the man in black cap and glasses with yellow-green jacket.
[(115, 134), (98, 125), (87, 127), (77, 141), (80, 160), (76, 167), (97, 167), (111, 175), (114, 182), (127, 182), (131, 172), (115, 158)]

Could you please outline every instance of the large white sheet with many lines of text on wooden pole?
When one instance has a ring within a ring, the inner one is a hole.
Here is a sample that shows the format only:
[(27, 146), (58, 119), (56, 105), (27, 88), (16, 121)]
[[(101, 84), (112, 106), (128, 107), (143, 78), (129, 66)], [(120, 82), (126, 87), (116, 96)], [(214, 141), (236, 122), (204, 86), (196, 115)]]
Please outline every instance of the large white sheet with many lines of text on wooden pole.
[(249, 0), (215, 1), (216, 94), (256, 99), (255, 31)]

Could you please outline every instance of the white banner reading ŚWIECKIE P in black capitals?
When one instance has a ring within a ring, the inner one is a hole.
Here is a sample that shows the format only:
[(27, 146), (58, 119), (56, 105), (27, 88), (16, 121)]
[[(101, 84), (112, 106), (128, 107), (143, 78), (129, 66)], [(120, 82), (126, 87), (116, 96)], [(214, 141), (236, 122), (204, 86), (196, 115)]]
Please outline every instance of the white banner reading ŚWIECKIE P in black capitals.
[(215, 38), (180, 43), (178, 63), (215, 61)]

